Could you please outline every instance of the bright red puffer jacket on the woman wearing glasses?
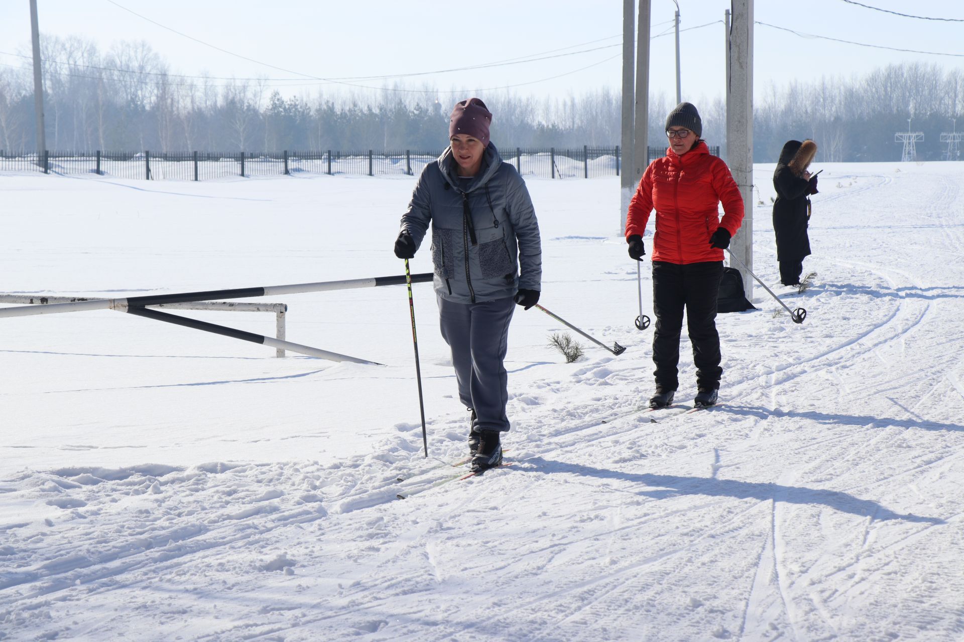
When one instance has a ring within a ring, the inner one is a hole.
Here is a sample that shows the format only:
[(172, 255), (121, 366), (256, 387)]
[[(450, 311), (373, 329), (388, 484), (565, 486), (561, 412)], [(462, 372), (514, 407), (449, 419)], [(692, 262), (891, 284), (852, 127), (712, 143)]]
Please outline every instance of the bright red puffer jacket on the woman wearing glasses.
[[(722, 221), (717, 209), (720, 202), (725, 213)], [(654, 261), (722, 261), (723, 250), (710, 247), (710, 236), (717, 227), (725, 227), (733, 236), (743, 222), (743, 198), (733, 174), (726, 163), (710, 155), (704, 141), (683, 156), (670, 148), (665, 157), (646, 168), (629, 202), (627, 238), (643, 236), (654, 207)]]

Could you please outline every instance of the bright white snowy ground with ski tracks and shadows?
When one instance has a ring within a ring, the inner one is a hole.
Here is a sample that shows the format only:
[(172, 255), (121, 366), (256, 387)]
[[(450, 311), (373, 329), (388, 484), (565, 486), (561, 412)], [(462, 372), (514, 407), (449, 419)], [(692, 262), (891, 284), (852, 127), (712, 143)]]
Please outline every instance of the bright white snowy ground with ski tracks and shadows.
[[(467, 417), (428, 284), (427, 461), (401, 287), (271, 299), (289, 341), (387, 367), (112, 311), (0, 320), (0, 639), (962, 639), (964, 164), (821, 167), (815, 285), (776, 291), (807, 321), (759, 287), (759, 311), (722, 315), (722, 404), (696, 414), (685, 341), (681, 405), (631, 412), (652, 329), (632, 326), (618, 179), (529, 180), (542, 302), (628, 349), (583, 342), (566, 365), (546, 346), (565, 328), (519, 309), (514, 465), (438, 487)], [(771, 286), (772, 169), (754, 226)], [(0, 176), (0, 292), (397, 274), (412, 186)], [(650, 284), (647, 262), (648, 314)]]

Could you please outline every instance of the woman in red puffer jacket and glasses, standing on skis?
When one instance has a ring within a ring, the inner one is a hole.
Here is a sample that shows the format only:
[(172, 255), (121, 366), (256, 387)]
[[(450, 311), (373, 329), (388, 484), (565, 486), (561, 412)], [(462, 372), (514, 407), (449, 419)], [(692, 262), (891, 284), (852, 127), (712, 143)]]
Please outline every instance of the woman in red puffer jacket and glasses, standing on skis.
[[(743, 199), (726, 164), (710, 155), (700, 139), (703, 123), (696, 108), (680, 103), (666, 118), (669, 149), (643, 172), (629, 202), (626, 241), (629, 256), (646, 253), (643, 232), (656, 209), (653, 235), (653, 307), (656, 332), (656, 395), (650, 407), (673, 402), (680, 385), (680, 333), (683, 309), (696, 365), (696, 405), (716, 402), (720, 385), (720, 339), (716, 295), (723, 273), (723, 250), (743, 220)], [(723, 203), (720, 220), (718, 204)]]

